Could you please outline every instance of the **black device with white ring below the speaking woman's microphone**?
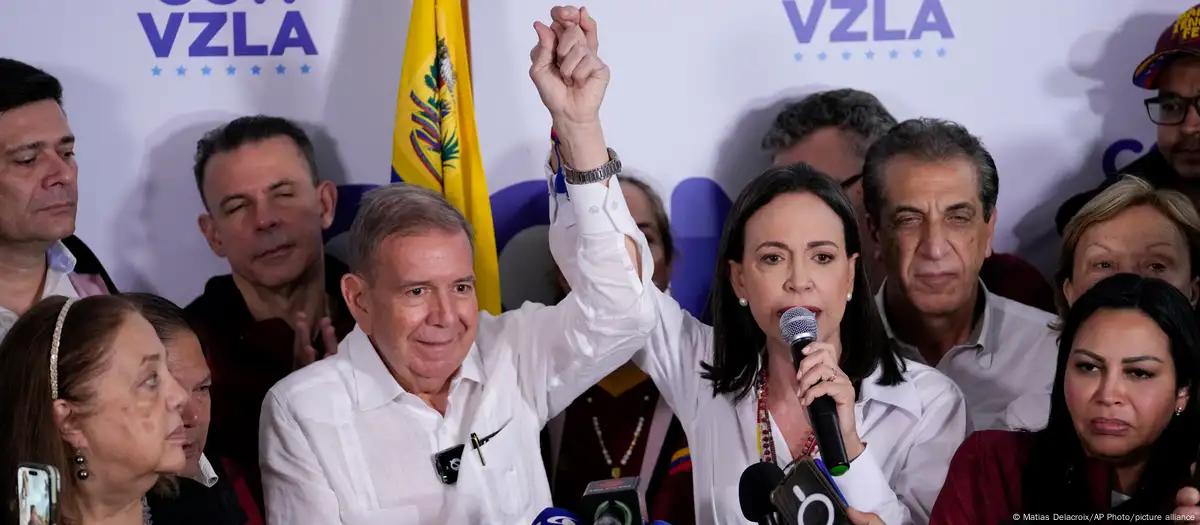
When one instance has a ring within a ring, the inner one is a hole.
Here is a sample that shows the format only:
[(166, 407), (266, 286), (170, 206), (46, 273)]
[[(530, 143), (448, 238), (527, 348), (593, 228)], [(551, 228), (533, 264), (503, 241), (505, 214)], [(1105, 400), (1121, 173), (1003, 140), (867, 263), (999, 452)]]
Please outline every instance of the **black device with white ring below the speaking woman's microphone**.
[(800, 458), (770, 501), (786, 525), (851, 525), (838, 488), (812, 458)]

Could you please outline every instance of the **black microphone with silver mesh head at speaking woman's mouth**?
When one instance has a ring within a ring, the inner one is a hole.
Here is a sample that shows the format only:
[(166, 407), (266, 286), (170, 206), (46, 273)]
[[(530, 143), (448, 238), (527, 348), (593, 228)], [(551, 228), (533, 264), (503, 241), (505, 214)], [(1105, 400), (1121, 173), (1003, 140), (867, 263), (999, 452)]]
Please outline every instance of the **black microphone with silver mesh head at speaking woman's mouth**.
[[(792, 366), (800, 372), (804, 360), (804, 348), (817, 339), (817, 316), (804, 307), (792, 307), (779, 319), (779, 333), (792, 346)], [(846, 457), (846, 441), (841, 439), (841, 426), (838, 424), (838, 405), (829, 396), (821, 396), (809, 405), (809, 422), (816, 435), (821, 459), (829, 473), (841, 476), (850, 470)]]

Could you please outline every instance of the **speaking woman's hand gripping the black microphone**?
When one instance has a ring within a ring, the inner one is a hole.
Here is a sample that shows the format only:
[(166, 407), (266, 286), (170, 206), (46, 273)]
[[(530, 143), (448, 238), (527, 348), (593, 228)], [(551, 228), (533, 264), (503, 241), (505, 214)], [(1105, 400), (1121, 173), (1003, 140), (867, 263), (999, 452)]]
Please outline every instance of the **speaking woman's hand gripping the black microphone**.
[(846, 442), (846, 457), (853, 460), (864, 448), (854, 424), (854, 384), (838, 367), (836, 355), (829, 343), (814, 342), (804, 348), (804, 358), (800, 360), (800, 369), (796, 374), (797, 381), (800, 382), (797, 396), (805, 409), (821, 396), (833, 398), (838, 405), (841, 437)]

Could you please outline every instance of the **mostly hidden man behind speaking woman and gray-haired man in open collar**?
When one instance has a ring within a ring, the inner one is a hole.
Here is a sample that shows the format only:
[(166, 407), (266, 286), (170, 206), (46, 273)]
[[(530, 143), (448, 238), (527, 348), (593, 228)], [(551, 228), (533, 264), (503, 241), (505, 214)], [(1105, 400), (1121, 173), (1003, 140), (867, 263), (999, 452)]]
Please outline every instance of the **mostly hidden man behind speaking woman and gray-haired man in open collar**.
[[(803, 162), (841, 183), (858, 215), (863, 237), (860, 258), (875, 286), (886, 271), (866, 228), (860, 183), (863, 159), (866, 150), (895, 125), (895, 117), (875, 95), (839, 89), (787, 104), (762, 138), (762, 149), (773, 156), (775, 165)], [(1055, 312), (1054, 289), (1045, 276), (1016, 255), (990, 254), (979, 277), (992, 294)]]

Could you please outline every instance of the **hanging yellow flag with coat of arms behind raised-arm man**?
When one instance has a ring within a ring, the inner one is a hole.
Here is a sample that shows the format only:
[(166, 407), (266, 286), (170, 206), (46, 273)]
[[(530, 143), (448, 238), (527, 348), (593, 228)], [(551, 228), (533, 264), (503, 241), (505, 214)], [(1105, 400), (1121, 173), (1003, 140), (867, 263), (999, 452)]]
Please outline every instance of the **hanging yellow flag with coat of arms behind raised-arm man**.
[(500, 313), (500, 270), (461, 0), (415, 0), (396, 101), (391, 180), (442, 192), (475, 230), (480, 308)]

